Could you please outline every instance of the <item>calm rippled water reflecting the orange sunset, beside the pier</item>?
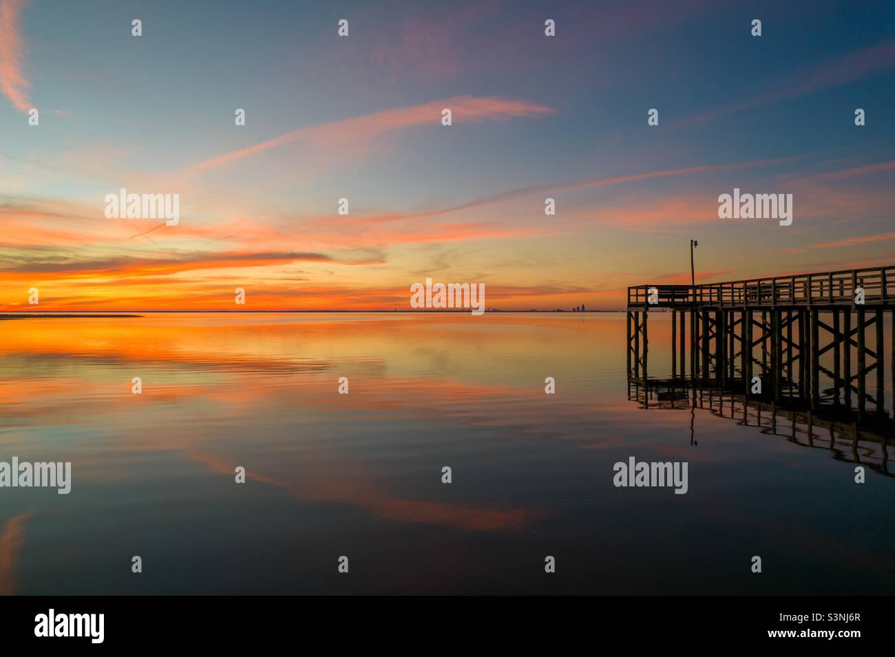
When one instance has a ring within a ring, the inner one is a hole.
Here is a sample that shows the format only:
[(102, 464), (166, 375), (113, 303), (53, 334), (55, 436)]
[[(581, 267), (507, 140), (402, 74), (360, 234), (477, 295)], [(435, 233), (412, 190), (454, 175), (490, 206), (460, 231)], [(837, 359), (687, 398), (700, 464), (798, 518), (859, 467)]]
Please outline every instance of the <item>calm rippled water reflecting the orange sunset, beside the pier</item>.
[[(0, 593), (895, 593), (882, 445), (643, 409), (625, 333), (624, 314), (0, 322), (0, 460), (73, 480), (0, 489)], [(686, 460), (689, 492), (616, 488), (630, 456)]]

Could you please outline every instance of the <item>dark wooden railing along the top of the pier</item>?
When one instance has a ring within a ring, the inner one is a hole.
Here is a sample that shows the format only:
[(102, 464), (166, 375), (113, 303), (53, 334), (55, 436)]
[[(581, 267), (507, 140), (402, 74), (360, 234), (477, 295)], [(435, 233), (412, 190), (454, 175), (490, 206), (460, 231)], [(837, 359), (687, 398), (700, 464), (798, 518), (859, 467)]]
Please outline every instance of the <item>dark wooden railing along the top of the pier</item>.
[[(813, 307), (852, 306), (857, 289), (865, 306), (895, 306), (895, 265), (795, 274), (700, 285), (635, 285), (628, 307)], [(655, 303), (650, 303), (651, 291)]]

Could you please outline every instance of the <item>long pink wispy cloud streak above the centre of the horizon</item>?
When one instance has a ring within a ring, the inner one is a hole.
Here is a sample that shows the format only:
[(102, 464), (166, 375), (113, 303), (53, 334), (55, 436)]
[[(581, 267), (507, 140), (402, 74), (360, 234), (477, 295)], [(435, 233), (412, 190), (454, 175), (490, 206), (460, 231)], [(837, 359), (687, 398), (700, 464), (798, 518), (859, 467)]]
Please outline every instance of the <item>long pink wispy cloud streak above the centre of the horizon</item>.
[(513, 118), (532, 118), (550, 114), (553, 109), (545, 105), (525, 100), (500, 97), (456, 96), (435, 100), (422, 105), (398, 107), (372, 114), (354, 116), (350, 119), (322, 123), (262, 141), (254, 146), (240, 148), (220, 156), (211, 157), (193, 164), (193, 173), (208, 171), (231, 164), (243, 157), (256, 155), (270, 148), (286, 144), (303, 144), (305, 147), (329, 147), (337, 144), (352, 144), (355, 147), (388, 132), (422, 125), (437, 125), (441, 120), (441, 110), (450, 108), (453, 119), (458, 122), (500, 121)]

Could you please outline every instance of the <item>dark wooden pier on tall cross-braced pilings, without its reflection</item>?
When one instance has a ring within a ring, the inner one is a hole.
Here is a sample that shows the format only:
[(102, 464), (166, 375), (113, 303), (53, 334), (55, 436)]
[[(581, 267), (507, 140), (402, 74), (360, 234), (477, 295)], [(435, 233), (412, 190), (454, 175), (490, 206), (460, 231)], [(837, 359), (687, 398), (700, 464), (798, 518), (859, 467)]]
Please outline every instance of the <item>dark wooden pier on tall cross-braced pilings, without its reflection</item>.
[(885, 414), (883, 327), (893, 310), (895, 265), (702, 285), (636, 285), (627, 289), (628, 375), (648, 380), (647, 320), (651, 311), (670, 311), (675, 378), (724, 390), (734, 386), (747, 399), (804, 400), (813, 410), (829, 402), (854, 409), (861, 424), (869, 412)]

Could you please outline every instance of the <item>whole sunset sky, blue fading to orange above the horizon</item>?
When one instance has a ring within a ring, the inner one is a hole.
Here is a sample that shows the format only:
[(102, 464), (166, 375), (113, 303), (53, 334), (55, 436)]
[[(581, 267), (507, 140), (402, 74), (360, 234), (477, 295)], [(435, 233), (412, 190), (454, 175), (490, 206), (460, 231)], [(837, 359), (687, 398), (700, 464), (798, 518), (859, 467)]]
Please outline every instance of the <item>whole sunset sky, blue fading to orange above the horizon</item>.
[[(895, 262), (895, 4), (555, 5), (0, 0), (0, 311), (617, 308), (690, 238), (697, 282)], [(792, 225), (719, 219), (735, 187)]]

